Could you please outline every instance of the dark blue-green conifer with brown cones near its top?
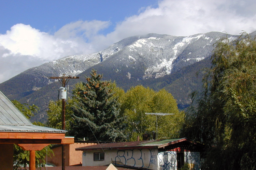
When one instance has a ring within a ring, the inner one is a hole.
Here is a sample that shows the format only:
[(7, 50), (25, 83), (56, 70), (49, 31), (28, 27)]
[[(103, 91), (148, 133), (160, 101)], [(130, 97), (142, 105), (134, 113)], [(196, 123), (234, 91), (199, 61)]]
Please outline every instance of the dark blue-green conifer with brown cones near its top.
[(123, 117), (118, 96), (110, 81), (102, 81), (95, 70), (86, 77), (87, 83), (77, 83), (73, 90), (73, 111), (70, 133), (75, 139), (123, 141)]

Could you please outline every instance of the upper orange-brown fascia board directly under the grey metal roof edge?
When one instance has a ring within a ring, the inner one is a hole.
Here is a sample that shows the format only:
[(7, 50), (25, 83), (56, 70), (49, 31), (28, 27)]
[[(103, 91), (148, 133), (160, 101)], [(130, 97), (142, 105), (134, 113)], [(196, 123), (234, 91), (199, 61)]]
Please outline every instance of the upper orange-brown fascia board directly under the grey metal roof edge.
[(0, 139), (64, 139), (65, 133), (0, 132)]

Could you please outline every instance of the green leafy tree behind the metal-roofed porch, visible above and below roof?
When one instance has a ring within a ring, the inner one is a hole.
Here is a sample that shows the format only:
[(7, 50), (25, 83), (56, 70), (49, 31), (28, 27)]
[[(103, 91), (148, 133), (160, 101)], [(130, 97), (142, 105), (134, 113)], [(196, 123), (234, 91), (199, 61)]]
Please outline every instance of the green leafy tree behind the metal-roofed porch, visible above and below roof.
[[(38, 112), (38, 107), (35, 105), (29, 106), (28, 104), (21, 104), (16, 100), (13, 100), (12, 103), (22, 112), (26, 118), (30, 119)], [(34, 125), (41, 125), (42, 123), (34, 122)], [(49, 146), (46, 146), (41, 151), (35, 151), (35, 166), (40, 167), (41, 164), (45, 163), (45, 156), (50, 155), (53, 151)], [(17, 170), (21, 167), (26, 168), (29, 165), (29, 151), (24, 151), (18, 145), (14, 144), (13, 152), (13, 169)]]

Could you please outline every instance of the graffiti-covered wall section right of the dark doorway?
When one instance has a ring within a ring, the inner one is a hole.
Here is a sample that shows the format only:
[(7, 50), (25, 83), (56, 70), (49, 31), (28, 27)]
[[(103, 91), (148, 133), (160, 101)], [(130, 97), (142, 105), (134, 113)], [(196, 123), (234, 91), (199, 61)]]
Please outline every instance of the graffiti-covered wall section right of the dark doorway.
[(184, 152), (185, 162), (194, 170), (200, 170), (200, 152)]

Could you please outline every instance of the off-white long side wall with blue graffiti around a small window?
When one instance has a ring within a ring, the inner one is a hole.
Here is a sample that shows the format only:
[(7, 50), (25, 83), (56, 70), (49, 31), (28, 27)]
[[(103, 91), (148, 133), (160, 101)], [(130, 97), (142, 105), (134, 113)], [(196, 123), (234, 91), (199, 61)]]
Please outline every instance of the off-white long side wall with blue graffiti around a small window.
[(158, 149), (104, 150), (104, 160), (94, 161), (94, 153), (102, 150), (84, 151), (83, 166), (130, 166), (144, 169), (157, 169)]

